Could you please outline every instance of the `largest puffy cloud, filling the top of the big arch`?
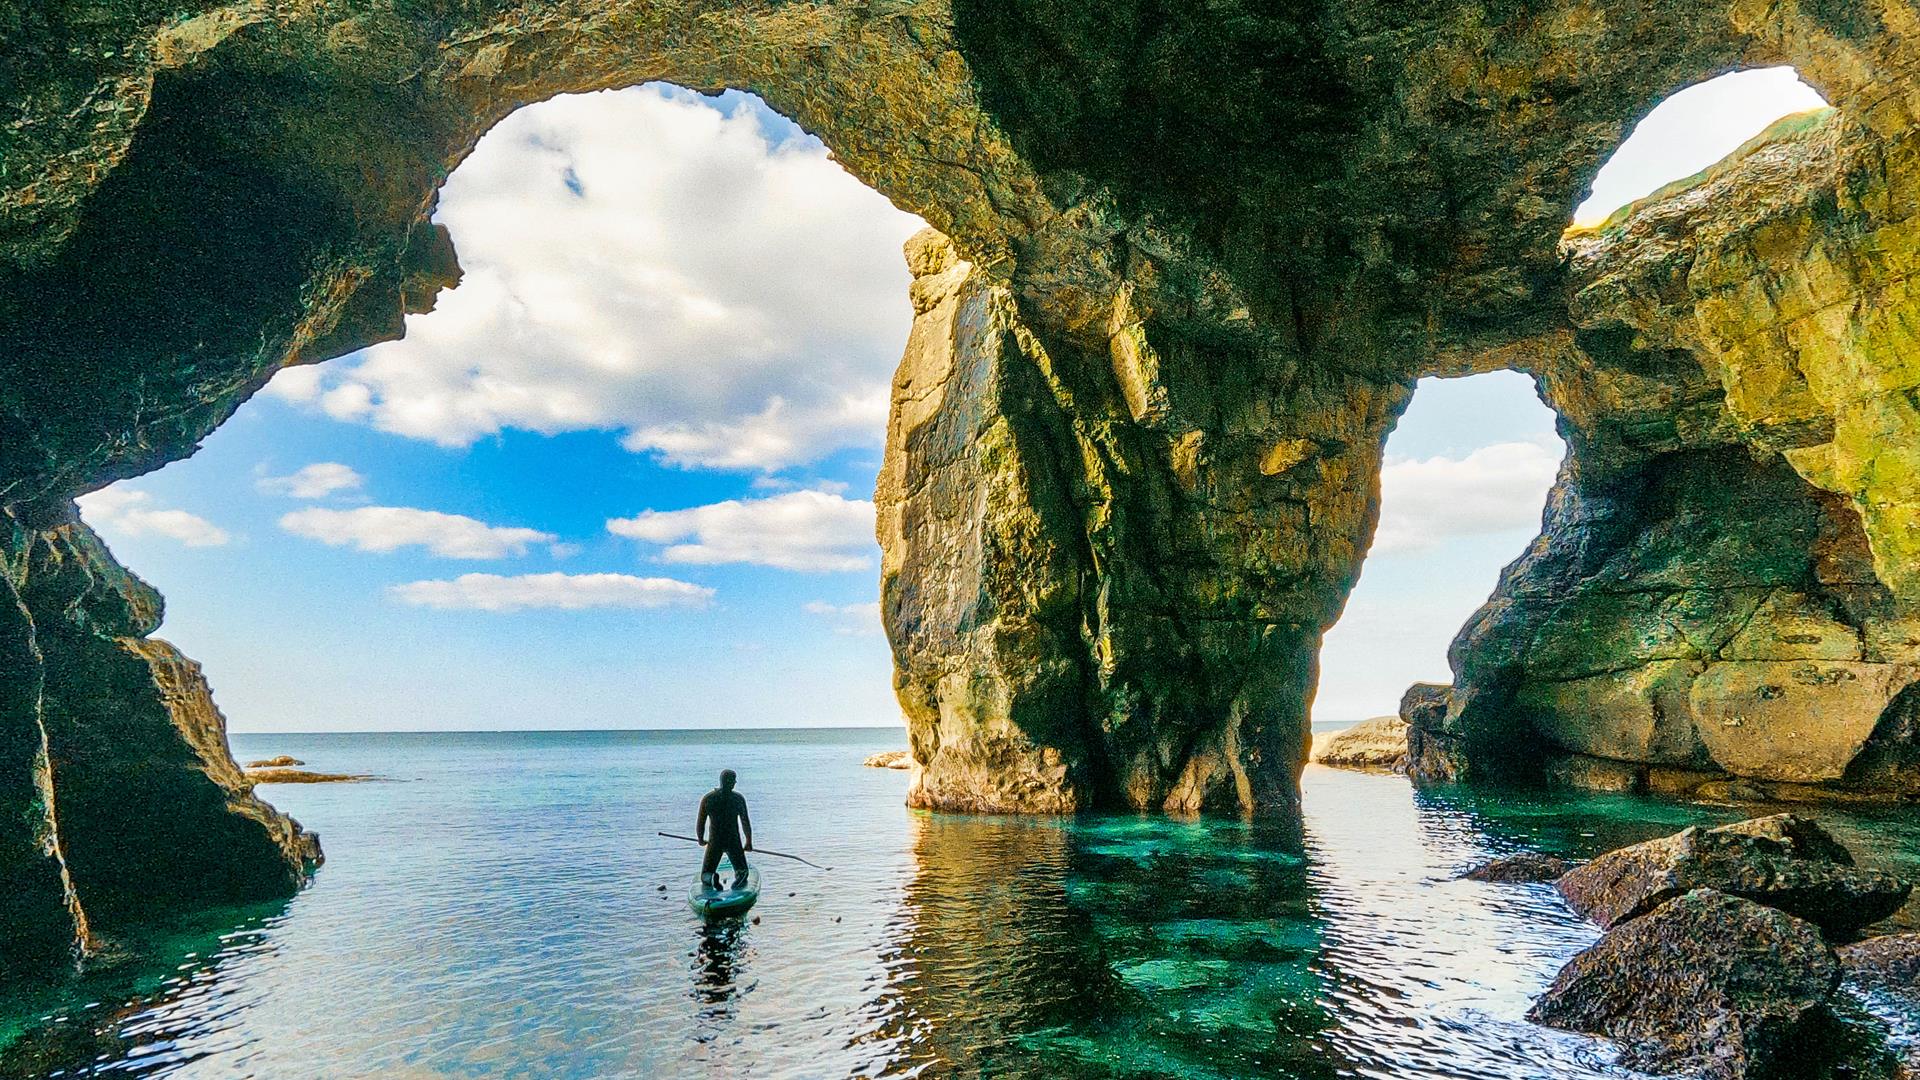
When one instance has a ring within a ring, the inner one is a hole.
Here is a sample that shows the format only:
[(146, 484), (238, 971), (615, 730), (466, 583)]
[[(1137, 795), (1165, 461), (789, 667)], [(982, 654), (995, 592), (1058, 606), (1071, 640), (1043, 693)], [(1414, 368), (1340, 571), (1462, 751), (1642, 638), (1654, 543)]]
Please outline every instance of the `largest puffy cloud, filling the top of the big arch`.
[(407, 336), (269, 386), (447, 446), (616, 430), (689, 467), (872, 446), (920, 219), (753, 98), (637, 86), (501, 121), (438, 219), (465, 279)]

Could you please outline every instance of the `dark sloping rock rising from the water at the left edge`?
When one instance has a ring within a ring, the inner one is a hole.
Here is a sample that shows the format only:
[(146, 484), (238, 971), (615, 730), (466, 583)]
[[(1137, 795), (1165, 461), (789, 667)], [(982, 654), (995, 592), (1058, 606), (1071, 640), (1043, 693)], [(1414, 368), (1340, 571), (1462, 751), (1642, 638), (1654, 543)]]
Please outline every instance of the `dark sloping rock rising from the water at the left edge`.
[(0, 847), (15, 886), (0, 890), (15, 919), (0, 970), (86, 957), (182, 909), (290, 896), (319, 844), (252, 796), (200, 667), (148, 636), (159, 596), (71, 505), (0, 515), (0, 701), (27, 734), (13, 805), (35, 822), (8, 836), (23, 849)]

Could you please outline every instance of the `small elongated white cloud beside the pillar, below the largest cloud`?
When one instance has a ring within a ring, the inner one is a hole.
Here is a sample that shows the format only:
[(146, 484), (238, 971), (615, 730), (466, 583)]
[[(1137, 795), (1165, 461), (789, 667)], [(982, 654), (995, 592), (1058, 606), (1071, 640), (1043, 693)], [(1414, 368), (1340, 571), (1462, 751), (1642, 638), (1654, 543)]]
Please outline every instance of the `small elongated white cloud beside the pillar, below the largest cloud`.
[(647, 509), (607, 523), (616, 536), (664, 544), (668, 563), (758, 563), (783, 571), (874, 565), (874, 503), (829, 492), (787, 492), (691, 509)]

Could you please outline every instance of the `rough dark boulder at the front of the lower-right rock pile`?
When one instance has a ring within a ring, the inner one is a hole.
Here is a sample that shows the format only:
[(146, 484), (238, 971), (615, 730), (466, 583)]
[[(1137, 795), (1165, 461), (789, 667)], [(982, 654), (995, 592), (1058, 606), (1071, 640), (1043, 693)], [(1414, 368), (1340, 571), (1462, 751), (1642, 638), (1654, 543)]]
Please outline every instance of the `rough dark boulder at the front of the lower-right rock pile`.
[(1690, 892), (1576, 955), (1528, 1019), (1622, 1043), (1620, 1065), (1713, 1080), (1799, 1074), (1839, 961), (1820, 930), (1716, 890)]

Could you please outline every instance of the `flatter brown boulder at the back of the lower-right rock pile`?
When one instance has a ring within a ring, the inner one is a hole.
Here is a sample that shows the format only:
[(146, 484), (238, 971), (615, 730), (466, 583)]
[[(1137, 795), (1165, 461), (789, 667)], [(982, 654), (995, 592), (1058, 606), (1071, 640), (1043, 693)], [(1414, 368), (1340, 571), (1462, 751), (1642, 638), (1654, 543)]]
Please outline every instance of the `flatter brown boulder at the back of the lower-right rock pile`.
[(1778, 907), (1851, 936), (1907, 903), (1912, 886), (1885, 871), (1853, 867), (1853, 857), (1811, 821), (1776, 815), (1722, 828), (1686, 828), (1609, 851), (1569, 871), (1557, 884), (1567, 903), (1617, 926), (1693, 892), (1718, 890)]

